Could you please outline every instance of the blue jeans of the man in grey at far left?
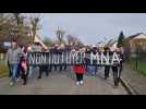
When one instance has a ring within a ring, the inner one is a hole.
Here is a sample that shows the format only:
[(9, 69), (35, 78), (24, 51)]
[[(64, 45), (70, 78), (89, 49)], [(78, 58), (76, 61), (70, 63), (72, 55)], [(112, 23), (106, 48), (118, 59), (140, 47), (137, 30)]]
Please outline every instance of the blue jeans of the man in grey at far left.
[(10, 64), (10, 70), (12, 72), (12, 77), (11, 77), (11, 81), (12, 82), (16, 82), (16, 75), (17, 75), (17, 70), (19, 70), (19, 63), (16, 64)]

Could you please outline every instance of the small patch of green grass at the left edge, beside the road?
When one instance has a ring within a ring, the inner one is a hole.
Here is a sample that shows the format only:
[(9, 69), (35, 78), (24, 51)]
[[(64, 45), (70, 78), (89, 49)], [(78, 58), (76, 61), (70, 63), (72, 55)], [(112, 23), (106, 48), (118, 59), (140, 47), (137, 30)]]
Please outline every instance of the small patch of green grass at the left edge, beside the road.
[(0, 61), (0, 77), (7, 75), (9, 72), (8, 65), (4, 61)]

